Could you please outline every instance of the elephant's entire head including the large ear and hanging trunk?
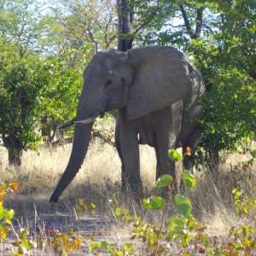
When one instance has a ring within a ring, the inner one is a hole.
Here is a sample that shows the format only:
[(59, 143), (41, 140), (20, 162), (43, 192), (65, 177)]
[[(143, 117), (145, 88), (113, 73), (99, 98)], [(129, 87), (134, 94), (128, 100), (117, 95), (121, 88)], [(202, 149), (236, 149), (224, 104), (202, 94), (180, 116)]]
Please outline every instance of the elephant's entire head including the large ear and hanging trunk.
[(92, 122), (98, 115), (126, 108), (127, 119), (138, 119), (189, 98), (195, 90), (189, 77), (193, 73), (195, 69), (182, 53), (170, 47), (97, 53), (84, 71), (72, 154), (50, 201), (58, 201), (79, 172), (90, 142)]

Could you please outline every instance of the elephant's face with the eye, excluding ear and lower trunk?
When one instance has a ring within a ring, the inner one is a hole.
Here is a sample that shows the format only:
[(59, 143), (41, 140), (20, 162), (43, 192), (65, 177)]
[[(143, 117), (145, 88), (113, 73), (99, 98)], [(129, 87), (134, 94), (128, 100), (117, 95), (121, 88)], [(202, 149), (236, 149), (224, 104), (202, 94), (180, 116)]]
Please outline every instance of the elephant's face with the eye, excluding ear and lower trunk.
[(125, 107), (134, 73), (125, 52), (97, 53), (84, 71), (76, 123), (88, 124), (106, 111)]

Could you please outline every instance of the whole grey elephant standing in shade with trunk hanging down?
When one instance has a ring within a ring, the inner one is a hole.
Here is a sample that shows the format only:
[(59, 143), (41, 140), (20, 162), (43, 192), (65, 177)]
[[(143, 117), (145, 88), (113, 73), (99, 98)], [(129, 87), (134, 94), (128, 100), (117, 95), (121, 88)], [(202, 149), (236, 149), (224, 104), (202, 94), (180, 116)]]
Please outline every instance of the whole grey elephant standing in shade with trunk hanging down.
[[(79, 98), (73, 150), (50, 201), (61, 193), (79, 172), (90, 143), (93, 120), (118, 109), (115, 143), (122, 162), (122, 185), (141, 191), (139, 144), (155, 148), (156, 178), (175, 175), (168, 159), (169, 148), (189, 146), (192, 153), (199, 138), (197, 120), (202, 116), (196, 99), (204, 91), (200, 73), (183, 54), (171, 47), (151, 46), (127, 52), (97, 53), (84, 71)], [(65, 126), (65, 125), (64, 125)], [(183, 163), (186, 169), (192, 163)]]

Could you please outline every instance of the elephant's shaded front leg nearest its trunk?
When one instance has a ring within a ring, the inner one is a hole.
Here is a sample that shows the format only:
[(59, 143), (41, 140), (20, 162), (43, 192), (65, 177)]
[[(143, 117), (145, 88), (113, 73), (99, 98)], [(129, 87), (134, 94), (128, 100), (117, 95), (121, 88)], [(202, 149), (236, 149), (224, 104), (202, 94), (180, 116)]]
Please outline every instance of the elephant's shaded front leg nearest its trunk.
[(128, 183), (133, 191), (142, 191), (137, 131), (132, 125), (129, 125), (129, 122), (128, 124), (121, 124), (120, 148), (123, 189), (127, 187)]

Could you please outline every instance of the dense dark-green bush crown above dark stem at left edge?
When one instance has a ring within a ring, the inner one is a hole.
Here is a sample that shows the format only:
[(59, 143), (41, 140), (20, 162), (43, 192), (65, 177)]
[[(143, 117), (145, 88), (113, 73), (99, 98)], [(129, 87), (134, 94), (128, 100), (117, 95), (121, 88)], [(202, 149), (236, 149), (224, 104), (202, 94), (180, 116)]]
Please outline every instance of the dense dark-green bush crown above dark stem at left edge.
[(24, 149), (35, 149), (40, 141), (36, 127), (38, 91), (42, 90), (47, 79), (43, 65), (42, 61), (35, 59), (10, 65), (2, 63), (0, 132), (8, 148), (12, 146), (12, 140), (20, 142)]

